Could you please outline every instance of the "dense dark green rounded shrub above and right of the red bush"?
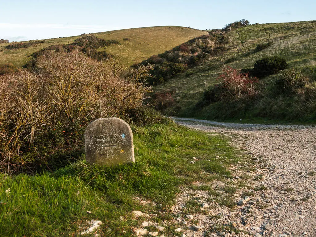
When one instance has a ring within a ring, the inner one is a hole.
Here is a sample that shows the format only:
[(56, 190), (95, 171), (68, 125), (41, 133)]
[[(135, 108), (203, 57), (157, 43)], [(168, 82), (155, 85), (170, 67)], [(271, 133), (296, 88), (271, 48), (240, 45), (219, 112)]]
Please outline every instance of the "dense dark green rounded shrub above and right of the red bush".
[(253, 76), (262, 78), (276, 74), (280, 70), (284, 70), (287, 67), (288, 63), (284, 58), (280, 56), (267, 57), (255, 62), (252, 74)]

